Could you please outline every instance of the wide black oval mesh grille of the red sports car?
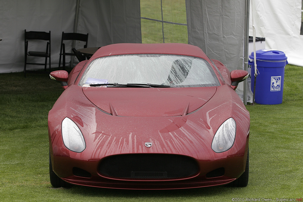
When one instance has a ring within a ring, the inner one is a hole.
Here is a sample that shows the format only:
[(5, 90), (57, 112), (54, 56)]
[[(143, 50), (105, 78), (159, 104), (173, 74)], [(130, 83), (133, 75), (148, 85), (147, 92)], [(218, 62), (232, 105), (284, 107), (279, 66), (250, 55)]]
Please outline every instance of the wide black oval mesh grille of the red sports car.
[(120, 154), (104, 158), (100, 174), (114, 178), (185, 178), (198, 173), (197, 162), (175, 154)]

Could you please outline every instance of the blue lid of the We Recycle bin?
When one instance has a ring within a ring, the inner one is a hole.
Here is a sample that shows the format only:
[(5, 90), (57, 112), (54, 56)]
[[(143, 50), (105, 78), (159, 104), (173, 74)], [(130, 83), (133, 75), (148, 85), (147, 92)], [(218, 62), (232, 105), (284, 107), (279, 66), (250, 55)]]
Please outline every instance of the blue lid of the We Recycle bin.
[[(254, 52), (251, 52), (249, 58), (254, 59)], [(261, 49), (256, 51), (256, 60), (262, 61), (286, 61), (287, 57), (282, 51), (272, 49)]]

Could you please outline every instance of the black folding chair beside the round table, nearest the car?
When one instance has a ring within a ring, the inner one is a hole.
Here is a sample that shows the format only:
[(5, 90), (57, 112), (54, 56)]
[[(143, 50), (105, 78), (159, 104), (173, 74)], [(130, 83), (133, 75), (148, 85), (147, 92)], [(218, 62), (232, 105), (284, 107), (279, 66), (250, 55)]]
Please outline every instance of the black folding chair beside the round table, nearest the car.
[[(61, 48), (60, 48), (60, 57), (59, 57), (59, 69), (61, 66), (61, 56), (63, 56), (63, 69), (65, 69), (65, 55), (73, 56), (75, 53), (65, 52), (65, 40), (76, 40), (76, 41), (84, 41), (84, 48), (87, 48), (88, 34), (79, 34), (79, 33), (64, 33), (62, 32), (61, 39)], [(75, 48), (75, 47), (72, 47)]]

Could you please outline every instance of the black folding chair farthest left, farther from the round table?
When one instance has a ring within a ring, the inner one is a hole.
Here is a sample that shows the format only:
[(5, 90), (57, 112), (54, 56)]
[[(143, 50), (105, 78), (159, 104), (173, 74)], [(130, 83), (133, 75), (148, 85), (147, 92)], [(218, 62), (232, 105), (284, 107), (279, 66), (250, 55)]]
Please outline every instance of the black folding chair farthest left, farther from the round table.
[[(28, 40), (44, 40), (47, 41), (46, 51), (28, 51)], [(49, 58), (49, 71), (51, 71), (51, 31), (26, 31), (25, 29), (25, 62), (24, 62), (24, 77), (26, 76), (26, 65), (44, 65), (46, 71), (47, 58)], [(44, 57), (45, 63), (27, 62), (28, 56)]]

